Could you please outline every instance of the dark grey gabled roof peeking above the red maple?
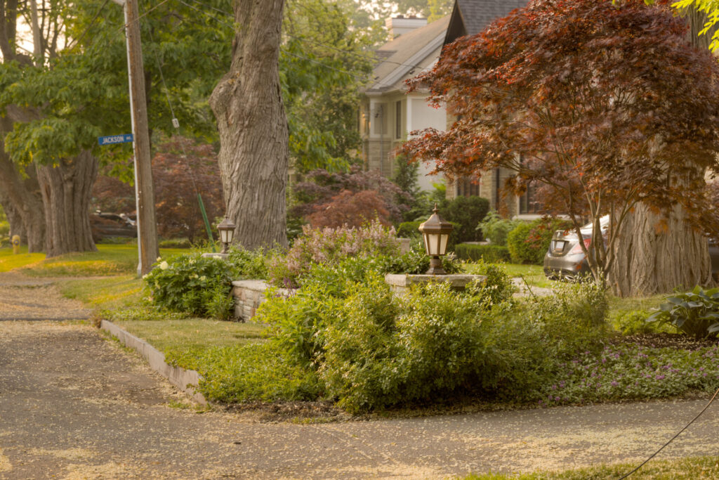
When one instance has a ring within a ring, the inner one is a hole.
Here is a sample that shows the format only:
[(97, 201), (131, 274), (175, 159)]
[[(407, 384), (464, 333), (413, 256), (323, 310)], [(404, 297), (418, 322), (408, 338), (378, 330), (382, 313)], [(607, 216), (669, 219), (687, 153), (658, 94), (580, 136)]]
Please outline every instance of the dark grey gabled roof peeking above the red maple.
[(527, 3), (528, 0), (454, 0), (444, 45), (464, 35), (477, 35), (493, 20)]

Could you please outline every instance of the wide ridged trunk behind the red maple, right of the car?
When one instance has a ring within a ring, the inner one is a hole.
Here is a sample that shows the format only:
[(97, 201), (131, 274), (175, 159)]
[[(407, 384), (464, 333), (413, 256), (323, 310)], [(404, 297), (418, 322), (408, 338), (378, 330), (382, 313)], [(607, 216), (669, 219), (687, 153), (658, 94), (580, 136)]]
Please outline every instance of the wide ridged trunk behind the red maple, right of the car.
[[(697, 37), (706, 14), (692, 9), (686, 12), (686, 18), (690, 24), (687, 42), (708, 48), (711, 34)], [(704, 173), (697, 170), (695, 174)], [(616, 260), (609, 274), (616, 295), (667, 294), (675, 288), (713, 283), (707, 238), (685, 220), (684, 209), (679, 206), (672, 209), (669, 219), (644, 205), (629, 214), (618, 237)]]

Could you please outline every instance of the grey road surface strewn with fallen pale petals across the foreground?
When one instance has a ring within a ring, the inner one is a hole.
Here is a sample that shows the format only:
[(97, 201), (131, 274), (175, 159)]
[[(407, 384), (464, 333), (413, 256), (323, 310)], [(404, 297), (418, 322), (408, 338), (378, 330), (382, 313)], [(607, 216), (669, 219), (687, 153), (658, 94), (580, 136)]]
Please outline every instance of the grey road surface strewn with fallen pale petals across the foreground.
[[(20, 290), (30, 298), (14, 304), (35, 302), (35, 288)], [(170, 407), (178, 400), (187, 402), (93, 327), (0, 322), (0, 479), (436, 479), (636, 462), (705, 404), (296, 425)], [(718, 414), (719, 402), (659, 458), (716, 455)]]

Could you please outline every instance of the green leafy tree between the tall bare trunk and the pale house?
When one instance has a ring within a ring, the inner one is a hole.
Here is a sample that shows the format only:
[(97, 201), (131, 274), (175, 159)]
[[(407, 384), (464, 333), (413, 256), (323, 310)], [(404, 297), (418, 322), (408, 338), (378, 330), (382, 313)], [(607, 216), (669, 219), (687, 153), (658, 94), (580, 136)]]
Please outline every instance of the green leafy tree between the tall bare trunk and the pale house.
[(354, 24), (347, 6), (288, 0), (280, 82), (290, 160), (297, 171), (344, 171), (357, 160), (357, 102), (372, 72), (372, 42), (372, 35)]

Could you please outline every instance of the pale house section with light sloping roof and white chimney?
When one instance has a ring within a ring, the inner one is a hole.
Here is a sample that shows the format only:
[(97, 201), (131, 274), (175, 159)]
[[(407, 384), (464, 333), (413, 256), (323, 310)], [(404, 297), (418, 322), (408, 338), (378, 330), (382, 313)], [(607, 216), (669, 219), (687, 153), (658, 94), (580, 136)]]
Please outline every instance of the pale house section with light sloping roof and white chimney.
[[(359, 134), (365, 167), (391, 178), (396, 169), (393, 150), (407, 140), (409, 132), (446, 128), (444, 108), (427, 104), (427, 91), (406, 93), (405, 81), (432, 68), (446, 40), (449, 16), (427, 23), (416, 17), (387, 20), (393, 40), (377, 51), (373, 81), (367, 86), (359, 109)], [(431, 166), (420, 166), (418, 184), (431, 190), (441, 177), (428, 176)]]

